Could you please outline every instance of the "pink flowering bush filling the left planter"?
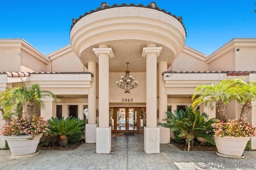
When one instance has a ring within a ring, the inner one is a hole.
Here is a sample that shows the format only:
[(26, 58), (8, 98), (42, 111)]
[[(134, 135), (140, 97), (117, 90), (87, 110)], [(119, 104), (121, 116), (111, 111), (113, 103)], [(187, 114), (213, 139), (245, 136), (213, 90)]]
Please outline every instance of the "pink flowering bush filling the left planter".
[(4, 123), (0, 135), (30, 135), (32, 137), (44, 133), (48, 130), (47, 121), (43, 117), (33, 116), (31, 125), (28, 124), (27, 117), (20, 119), (11, 119), (10, 122)]

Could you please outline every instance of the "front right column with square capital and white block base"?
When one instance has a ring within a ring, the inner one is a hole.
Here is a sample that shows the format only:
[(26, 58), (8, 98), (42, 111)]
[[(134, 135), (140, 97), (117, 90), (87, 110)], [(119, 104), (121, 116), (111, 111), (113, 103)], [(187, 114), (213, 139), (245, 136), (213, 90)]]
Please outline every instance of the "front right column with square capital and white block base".
[(146, 127), (144, 128), (144, 150), (146, 153), (160, 152), (160, 130), (157, 127), (157, 57), (162, 47), (149, 44), (143, 48), (142, 57), (146, 57)]

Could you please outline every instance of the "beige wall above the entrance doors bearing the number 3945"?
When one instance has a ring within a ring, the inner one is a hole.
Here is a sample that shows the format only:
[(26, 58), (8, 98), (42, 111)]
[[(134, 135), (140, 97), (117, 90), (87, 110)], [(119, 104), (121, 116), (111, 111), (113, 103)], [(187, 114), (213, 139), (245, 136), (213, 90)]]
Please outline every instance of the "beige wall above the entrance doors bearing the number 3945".
[[(145, 103), (146, 102), (146, 73), (145, 72), (131, 72), (135, 79), (139, 82), (138, 86), (130, 90), (129, 94), (125, 94), (124, 90), (116, 85), (120, 76), (124, 76), (125, 72), (110, 72), (109, 73), (109, 102), (110, 103)], [(132, 99), (132, 102), (122, 102), (122, 99)]]

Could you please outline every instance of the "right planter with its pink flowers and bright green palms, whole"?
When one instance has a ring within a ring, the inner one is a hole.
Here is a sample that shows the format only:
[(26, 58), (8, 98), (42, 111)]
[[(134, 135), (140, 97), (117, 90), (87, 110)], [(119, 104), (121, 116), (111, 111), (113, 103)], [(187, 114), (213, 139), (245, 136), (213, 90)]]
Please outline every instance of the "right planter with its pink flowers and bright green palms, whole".
[[(256, 92), (252, 95), (252, 89), (255, 88), (254, 83), (247, 83), (237, 78), (222, 80), (217, 84), (202, 84), (195, 89), (192, 100), (198, 95), (200, 96), (194, 100), (192, 107), (196, 109), (200, 104), (204, 104), (212, 109), (216, 106), (222, 118), (222, 121), (216, 120), (216, 123), (213, 124), (218, 155), (229, 158), (244, 157), (242, 153), (246, 143), (256, 135), (255, 128), (250, 123), (246, 123), (246, 119), (243, 119), (248, 116), (248, 111), (250, 112), (250, 102), (256, 99), (252, 97), (256, 96)], [(231, 100), (244, 102), (240, 119), (227, 119), (225, 106)]]

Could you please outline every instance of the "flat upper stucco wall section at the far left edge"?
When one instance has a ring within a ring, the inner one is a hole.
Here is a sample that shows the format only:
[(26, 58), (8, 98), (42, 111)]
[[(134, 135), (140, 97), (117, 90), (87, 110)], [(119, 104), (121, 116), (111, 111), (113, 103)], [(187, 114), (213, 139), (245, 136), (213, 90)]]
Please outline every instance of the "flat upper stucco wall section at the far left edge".
[(1, 72), (17, 72), (20, 71), (20, 56), (15, 53), (20, 53), (20, 48), (0, 48), (0, 71)]

